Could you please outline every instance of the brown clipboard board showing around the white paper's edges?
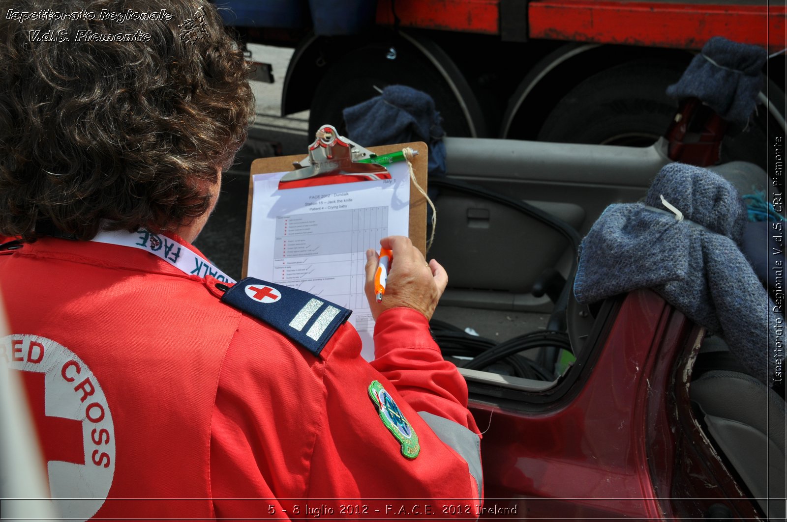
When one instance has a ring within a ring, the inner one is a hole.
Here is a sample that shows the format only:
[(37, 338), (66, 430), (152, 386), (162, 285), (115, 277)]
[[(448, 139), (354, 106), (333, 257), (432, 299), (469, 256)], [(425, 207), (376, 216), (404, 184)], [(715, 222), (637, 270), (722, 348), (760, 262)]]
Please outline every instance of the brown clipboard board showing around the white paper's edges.
[[(379, 147), (369, 147), (371, 152), (382, 155), (400, 151), (405, 147), (410, 147), (418, 151), (418, 155), (412, 160), (412, 170), (416, 175), (416, 181), (421, 188), (427, 189), (427, 144), (424, 142), (401, 143), (397, 145), (380, 145)], [(246, 208), (246, 240), (243, 244), (243, 272), (242, 277), (246, 278), (249, 267), (249, 234), (251, 233), (251, 204), (253, 200), (253, 176), (256, 174), (268, 174), (270, 172), (293, 171), (294, 161), (303, 160), (303, 154), (292, 156), (275, 156), (272, 158), (260, 158), (251, 164), (249, 175), (249, 204)], [(427, 252), (427, 200), (419, 193), (416, 186), (410, 180), (410, 240), (416, 245), (423, 255)]]

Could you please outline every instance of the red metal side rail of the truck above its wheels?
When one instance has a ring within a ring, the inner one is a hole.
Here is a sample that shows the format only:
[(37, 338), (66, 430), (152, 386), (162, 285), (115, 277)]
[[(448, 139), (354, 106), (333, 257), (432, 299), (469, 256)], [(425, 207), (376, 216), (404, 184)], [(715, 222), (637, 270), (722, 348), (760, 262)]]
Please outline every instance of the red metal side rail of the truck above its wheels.
[[(503, 35), (501, 0), (397, 0), (403, 28)], [(391, 0), (382, 0), (376, 21), (396, 23)], [(609, 0), (534, 0), (520, 4), (520, 33), (527, 39), (552, 39), (631, 46), (699, 50), (712, 36), (784, 49), (787, 6), (759, 2), (626, 2)], [(511, 25), (509, 20), (505, 25)]]

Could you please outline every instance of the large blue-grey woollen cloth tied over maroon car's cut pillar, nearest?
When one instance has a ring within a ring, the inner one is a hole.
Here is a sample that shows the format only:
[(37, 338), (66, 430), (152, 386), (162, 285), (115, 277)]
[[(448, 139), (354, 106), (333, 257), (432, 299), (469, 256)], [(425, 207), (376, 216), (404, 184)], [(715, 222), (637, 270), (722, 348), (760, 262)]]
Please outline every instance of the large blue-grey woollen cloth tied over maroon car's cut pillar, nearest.
[[(685, 219), (678, 221), (661, 196)], [(704, 168), (668, 164), (645, 204), (612, 204), (593, 224), (582, 241), (575, 296), (593, 303), (654, 289), (722, 336), (750, 373), (772, 384), (775, 356), (785, 346), (781, 304), (770, 300), (738, 247), (746, 220), (741, 197), (725, 179)]]

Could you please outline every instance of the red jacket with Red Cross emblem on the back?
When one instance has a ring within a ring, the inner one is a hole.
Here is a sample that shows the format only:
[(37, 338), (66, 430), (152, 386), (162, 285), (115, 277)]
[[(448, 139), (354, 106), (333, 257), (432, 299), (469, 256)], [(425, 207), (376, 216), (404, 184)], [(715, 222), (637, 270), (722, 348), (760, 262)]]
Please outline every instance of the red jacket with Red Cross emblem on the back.
[[(52, 496), (96, 498), (58, 501), (63, 516), (475, 516), (473, 458), (430, 425), (478, 429), (423, 315), (383, 313), (371, 364), (346, 324), (315, 356), (220, 303), (215, 283), (113, 244), (0, 252), (4, 353)], [(370, 399), (375, 380), (416, 432), (416, 458)]]

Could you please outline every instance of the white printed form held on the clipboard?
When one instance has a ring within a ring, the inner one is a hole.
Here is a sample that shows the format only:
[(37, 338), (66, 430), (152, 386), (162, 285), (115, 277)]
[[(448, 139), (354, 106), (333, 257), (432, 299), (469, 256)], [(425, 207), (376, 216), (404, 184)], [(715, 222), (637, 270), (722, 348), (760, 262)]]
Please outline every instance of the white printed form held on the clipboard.
[(368, 361), (375, 322), (364, 294), (366, 251), (409, 227), (407, 163), (387, 168), (391, 179), (297, 189), (279, 189), (286, 172), (253, 176), (247, 274), (351, 309)]

